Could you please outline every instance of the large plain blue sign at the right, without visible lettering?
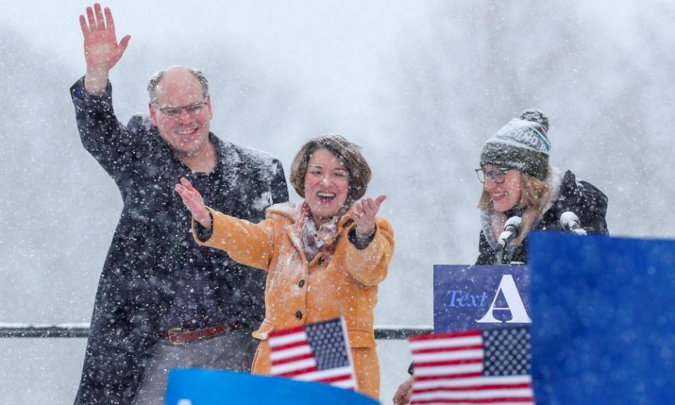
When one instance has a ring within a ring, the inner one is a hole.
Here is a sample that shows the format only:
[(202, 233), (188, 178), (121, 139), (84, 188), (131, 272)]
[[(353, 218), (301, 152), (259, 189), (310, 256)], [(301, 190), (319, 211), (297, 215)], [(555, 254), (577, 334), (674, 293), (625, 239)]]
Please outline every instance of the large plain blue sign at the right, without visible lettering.
[(534, 233), (537, 404), (671, 404), (675, 241)]

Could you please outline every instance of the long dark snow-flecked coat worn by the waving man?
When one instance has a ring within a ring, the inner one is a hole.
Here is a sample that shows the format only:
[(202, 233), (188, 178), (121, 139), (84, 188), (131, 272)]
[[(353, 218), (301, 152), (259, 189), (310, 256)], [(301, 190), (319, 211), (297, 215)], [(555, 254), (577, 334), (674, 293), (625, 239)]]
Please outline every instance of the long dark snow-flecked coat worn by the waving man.
[[(101, 96), (70, 93), (84, 148), (115, 180), (124, 207), (98, 283), (82, 381), (75, 404), (129, 404), (143, 376), (149, 349), (158, 339), (184, 271), (191, 216), (174, 192), (190, 174), (147, 118), (127, 126), (113, 112), (112, 88)], [(281, 164), (265, 153), (210, 139), (221, 165), (215, 209), (257, 222), (272, 204), (288, 200)], [(264, 319), (263, 271), (245, 268), (217, 253), (208, 274), (229, 319), (251, 331)]]

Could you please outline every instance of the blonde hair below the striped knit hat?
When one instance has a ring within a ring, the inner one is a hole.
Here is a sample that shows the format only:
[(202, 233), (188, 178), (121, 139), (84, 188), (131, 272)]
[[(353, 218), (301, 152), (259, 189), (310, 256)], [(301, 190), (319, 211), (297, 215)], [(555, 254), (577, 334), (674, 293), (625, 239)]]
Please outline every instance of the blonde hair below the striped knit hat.
[[(546, 179), (540, 180), (534, 176), (530, 176), (527, 173), (520, 172), (520, 200), (518, 204), (515, 205), (517, 208), (525, 208), (525, 212), (522, 214), (522, 230), (520, 231), (520, 236), (516, 239), (516, 243), (521, 243), (527, 237), (527, 233), (534, 226), (534, 221), (539, 217), (541, 210), (544, 209), (546, 201), (548, 201), (548, 196), (551, 191), (548, 187), (548, 178), (551, 176), (551, 168), (548, 168), (546, 171)], [(478, 207), (482, 210), (492, 211), (494, 210), (494, 203), (490, 198), (490, 193), (485, 191), (480, 195), (480, 200), (478, 200)]]

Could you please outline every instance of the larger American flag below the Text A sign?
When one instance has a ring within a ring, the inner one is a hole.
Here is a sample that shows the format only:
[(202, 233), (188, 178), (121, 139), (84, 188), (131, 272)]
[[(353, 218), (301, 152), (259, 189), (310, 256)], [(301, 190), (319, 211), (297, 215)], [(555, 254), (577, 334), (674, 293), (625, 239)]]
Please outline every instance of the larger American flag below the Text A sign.
[(529, 329), (500, 328), (410, 338), (411, 404), (533, 404)]

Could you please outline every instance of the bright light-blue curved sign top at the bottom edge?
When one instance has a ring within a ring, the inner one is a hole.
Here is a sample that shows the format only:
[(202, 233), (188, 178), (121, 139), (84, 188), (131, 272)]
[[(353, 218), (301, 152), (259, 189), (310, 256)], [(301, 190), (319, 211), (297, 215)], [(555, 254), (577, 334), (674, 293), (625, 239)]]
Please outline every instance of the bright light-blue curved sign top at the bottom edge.
[(377, 405), (350, 390), (249, 373), (176, 368), (169, 371), (166, 405)]

